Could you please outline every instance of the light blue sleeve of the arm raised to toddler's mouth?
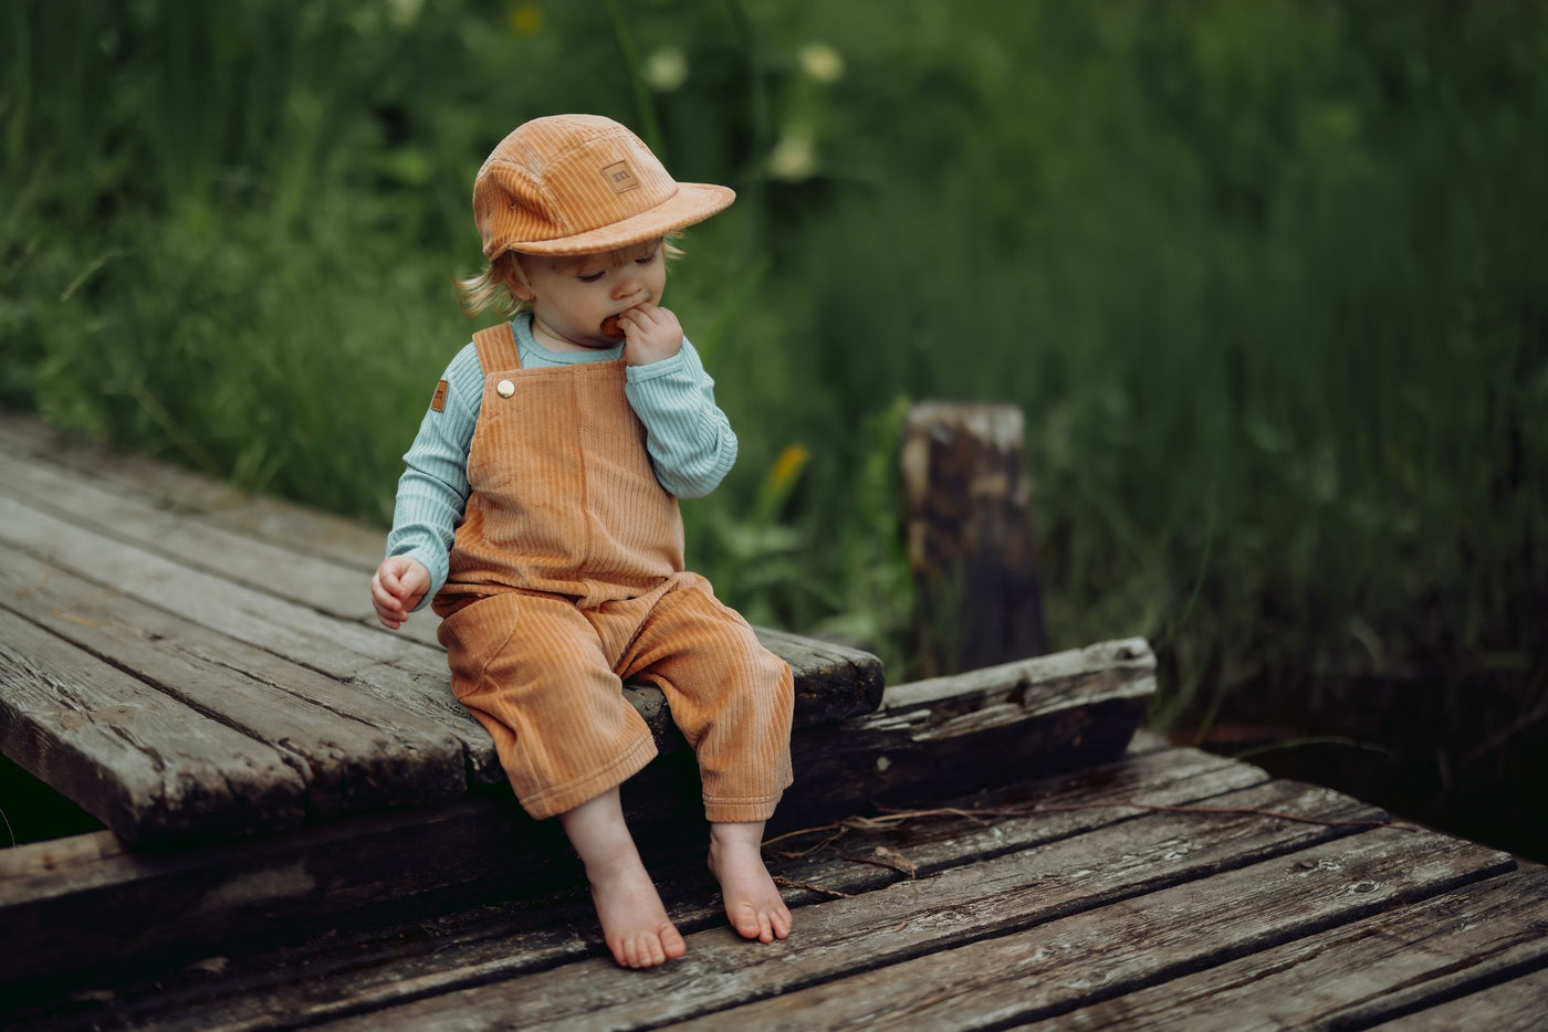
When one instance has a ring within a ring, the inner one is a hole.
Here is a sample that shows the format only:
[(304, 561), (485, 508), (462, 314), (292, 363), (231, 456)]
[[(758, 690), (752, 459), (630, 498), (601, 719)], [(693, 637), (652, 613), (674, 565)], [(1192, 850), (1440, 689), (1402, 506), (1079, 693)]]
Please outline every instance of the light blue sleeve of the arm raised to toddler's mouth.
[(737, 435), (687, 339), (670, 359), (630, 367), (625, 393), (646, 424), (646, 449), (663, 487), (678, 498), (703, 498), (720, 486), (737, 461)]

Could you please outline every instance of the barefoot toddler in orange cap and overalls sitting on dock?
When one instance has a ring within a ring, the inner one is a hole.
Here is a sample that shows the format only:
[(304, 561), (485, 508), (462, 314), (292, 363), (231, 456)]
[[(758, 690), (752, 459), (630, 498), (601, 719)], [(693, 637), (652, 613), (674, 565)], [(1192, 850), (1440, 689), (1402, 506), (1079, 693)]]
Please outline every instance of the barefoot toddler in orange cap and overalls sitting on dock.
[(791, 928), (760, 851), (791, 781), (791, 671), (684, 569), (678, 498), (721, 481), (737, 438), (659, 305), (666, 238), (734, 196), (673, 181), (605, 118), (534, 119), (495, 147), (474, 183), (489, 266), (463, 289), (514, 319), (437, 385), (372, 579), (389, 628), (430, 600), (452, 690), (522, 806), (559, 817), (628, 967), (684, 942), (619, 805), (655, 755), (624, 679), (658, 685), (694, 747), (731, 924), (760, 942)]

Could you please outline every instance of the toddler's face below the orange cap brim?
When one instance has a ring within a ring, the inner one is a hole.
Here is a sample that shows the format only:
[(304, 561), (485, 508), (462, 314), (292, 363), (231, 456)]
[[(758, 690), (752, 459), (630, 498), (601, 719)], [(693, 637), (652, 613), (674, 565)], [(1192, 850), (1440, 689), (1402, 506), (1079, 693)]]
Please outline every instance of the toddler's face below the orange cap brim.
[(556, 350), (611, 348), (619, 337), (602, 320), (635, 305), (655, 305), (667, 285), (661, 240), (582, 255), (519, 257), (533, 302), (533, 331)]

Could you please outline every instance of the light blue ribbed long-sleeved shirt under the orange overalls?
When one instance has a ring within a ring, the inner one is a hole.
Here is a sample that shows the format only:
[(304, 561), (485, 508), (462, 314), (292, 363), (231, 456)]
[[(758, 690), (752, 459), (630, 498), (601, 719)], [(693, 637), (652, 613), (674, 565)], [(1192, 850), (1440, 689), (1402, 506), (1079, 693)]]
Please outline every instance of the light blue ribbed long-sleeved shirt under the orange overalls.
[[(533, 316), (511, 320), (523, 368), (608, 362), (624, 345), (605, 351), (550, 351), (533, 339)], [(446, 407), (424, 413), (413, 447), (404, 455), (398, 503), (387, 535), (389, 555), (409, 555), (430, 571), (426, 602), (446, 583), (452, 538), (467, 506), (467, 450), (483, 405), (485, 371), (469, 342), (446, 367)], [(630, 365), (624, 393), (646, 427), (646, 449), (661, 486), (680, 498), (703, 498), (737, 461), (737, 435), (715, 404), (715, 381), (694, 345), (670, 359)]]

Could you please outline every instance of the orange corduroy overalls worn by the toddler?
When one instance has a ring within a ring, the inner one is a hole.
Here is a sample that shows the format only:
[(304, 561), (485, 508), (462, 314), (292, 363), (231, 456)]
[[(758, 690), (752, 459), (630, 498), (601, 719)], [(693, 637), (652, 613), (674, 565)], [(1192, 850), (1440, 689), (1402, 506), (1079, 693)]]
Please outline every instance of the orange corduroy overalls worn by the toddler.
[(469, 497), (435, 599), (452, 690), (533, 817), (655, 757), (622, 681), (658, 685), (694, 747), (711, 822), (766, 820), (791, 783), (789, 667), (683, 569), (625, 364), (522, 368), (509, 323), (474, 336), (483, 402)]

